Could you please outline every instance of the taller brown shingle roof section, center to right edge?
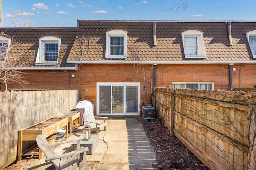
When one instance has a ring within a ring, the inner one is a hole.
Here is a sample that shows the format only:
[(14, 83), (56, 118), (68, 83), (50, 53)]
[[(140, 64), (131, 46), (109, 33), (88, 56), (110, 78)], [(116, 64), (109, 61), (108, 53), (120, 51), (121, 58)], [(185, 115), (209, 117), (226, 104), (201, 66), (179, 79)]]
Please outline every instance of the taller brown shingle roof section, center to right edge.
[[(84, 50), (80, 44), (72, 47), (68, 61), (106, 60), (106, 32), (121, 29), (128, 32), (127, 61), (183, 61), (185, 59), (181, 33), (188, 30), (203, 32), (206, 49), (204, 61), (252, 60), (252, 54), (245, 33), (256, 30), (255, 22), (232, 22), (232, 41), (230, 46), (226, 22), (172, 22), (156, 21), (157, 45), (153, 45), (153, 21), (80, 21), (80, 38), (83, 37)], [(81, 40), (80, 40), (81, 42)], [(138, 55), (135, 55), (138, 54)]]

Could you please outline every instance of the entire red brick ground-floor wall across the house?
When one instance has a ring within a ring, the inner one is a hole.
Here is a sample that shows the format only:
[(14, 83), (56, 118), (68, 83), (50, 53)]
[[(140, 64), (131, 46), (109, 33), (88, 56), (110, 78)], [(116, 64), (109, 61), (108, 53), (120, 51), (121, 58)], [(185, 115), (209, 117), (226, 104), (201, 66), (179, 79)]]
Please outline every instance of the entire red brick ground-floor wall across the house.
[[(234, 65), (233, 87), (253, 88), (256, 82), (255, 65)], [(240, 74), (241, 70), (241, 74)], [(151, 103), (154, 89), (152, 64), (83, 64), (78, 71), (28, 71), (28, 85), (24, 88), (50, 90), (80, 89), (80, 100), (96, 105), (97, 82), (140, 82), (141, 103)], [(71, 74), (75, 77), (72, 78)], [(241, 75), (241, 76), (240, 76)], [(70, 76), (70, 77), (69, 77)], [(157, 87), (172, 87), (172, 82), (214, 82), (215, 90), (228, 90), (228, 64), (158, 64)], [(240, 80), (241, 79), (241, 80)], [(146, 86), (146, 90), (143, 88)], [(21, 88), (8, 84), (8, 88)], [(1, 91), (4, 85), (1, 84)]]

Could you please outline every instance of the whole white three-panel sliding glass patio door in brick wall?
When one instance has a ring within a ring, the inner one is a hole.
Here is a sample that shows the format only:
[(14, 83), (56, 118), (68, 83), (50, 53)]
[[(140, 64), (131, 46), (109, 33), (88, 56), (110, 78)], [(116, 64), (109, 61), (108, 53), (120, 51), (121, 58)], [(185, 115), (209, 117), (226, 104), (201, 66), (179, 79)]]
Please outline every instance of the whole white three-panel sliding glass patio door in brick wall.
[(140, 83), (97, 83), (97, 114), (138, 114)]

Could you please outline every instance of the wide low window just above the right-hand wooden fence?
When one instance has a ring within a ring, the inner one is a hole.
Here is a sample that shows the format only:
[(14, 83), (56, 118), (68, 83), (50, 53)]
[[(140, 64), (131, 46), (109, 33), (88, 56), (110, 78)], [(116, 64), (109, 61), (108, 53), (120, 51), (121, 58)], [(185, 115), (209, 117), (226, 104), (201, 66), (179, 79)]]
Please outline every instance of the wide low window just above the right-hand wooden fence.
[(214, 90), (214, 83), (212, 82), (174, 82), (172, 88), (190, 88), (190, 89), (201, 89), (201, 90)]

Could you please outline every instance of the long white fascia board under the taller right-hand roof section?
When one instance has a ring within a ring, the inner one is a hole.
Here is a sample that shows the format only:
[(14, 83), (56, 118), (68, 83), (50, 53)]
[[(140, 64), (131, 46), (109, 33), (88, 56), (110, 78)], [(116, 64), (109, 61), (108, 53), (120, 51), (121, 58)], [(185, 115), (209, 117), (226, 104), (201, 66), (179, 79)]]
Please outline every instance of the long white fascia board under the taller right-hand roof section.
[(81, 64), (256, 64), (256, 60), (241, 60), (241, 61), (122, 61), (122, 60), (104, 60), (104, 61), (67, 61), (67, 63)]

